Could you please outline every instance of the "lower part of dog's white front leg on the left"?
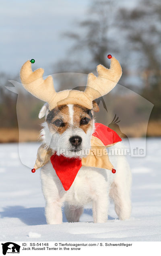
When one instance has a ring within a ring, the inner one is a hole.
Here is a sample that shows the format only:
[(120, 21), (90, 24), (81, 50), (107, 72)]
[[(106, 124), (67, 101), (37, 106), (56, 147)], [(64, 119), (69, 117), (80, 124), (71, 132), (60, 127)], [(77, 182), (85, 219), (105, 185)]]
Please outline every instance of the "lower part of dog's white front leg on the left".
[(55, 201), (46, 202), (45, 217), (47, 224), (61, 224), (62, 223), (62, 202)]

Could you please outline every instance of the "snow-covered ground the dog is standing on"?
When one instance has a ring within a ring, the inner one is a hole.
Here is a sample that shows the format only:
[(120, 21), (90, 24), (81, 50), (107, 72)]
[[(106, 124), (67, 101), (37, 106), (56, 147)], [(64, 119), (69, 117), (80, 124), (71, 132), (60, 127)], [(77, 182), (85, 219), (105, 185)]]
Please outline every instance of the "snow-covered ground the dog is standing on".
[[(38, 147), (21, 144), (29, 166)], [(133, 174), (130, 220), (118, 220), (111, 203), (107, 223), (94, 224), (91, 209), (85, 209), (79, 223), (67, 223), (63, 214), (62, 225), (46, 225), (39, 170), (33, 174), (21, 163), (18, 144), (1, 144), (0, 241), (161, 241), (161, 138), (147, 139), (146, 157), (128, 159)]]

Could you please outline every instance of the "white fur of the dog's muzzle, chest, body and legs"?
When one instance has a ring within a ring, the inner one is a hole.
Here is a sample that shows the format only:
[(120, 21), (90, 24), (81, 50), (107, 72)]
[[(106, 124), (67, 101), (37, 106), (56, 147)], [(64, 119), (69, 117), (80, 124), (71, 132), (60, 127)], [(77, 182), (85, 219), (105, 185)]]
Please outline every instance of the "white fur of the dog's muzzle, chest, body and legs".
[[(69, 149), (69, 137), (78, 135), (83, 138), (83, 149), (90, 148), (93, 127), (89, 129), (88, 134), (85, 134), (81, 128), (71, 128), (61, 136), (57, 133), (51, 134), (46, 122), (43, 127), (43, 140), (50, 147), (64, 148), (65, 146)], [(122, 148), (122, 142), (118, 142), (113, 147)], [(106, 169), (82, 166), (68, 191), (64, 190), (50, 161), (41, 168), (41, 185), (46, 200), (45, 216), (48, 224), (62, 223), (63, 203), (69, 222), (79, 221), (83, 206), (92, 203), (94, 223), (104, 223), (108, 216), (109, 197), (114, 200), (116, 213), (121, 220), (130, 217), (131, 172), (129, 165), (122, 155), (109, 158), (116, 168), (115, 174)]]

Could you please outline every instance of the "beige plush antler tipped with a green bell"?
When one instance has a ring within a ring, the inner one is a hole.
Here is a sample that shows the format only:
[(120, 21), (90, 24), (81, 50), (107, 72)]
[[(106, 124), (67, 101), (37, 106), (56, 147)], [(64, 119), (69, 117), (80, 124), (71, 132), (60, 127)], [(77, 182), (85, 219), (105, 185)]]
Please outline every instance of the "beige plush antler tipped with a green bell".
[(38, 68), (33, 72), (31, 62), (27, 60), (21, 68), (20, 78), (23, 87), (29, 91), (29, 93), (32, 93), (35, 97), (50, 104), (56, 95), (56, 91), (54, 89), (52, 76), (48, 76), (44, 80), (43, 73), (43, 68)]

